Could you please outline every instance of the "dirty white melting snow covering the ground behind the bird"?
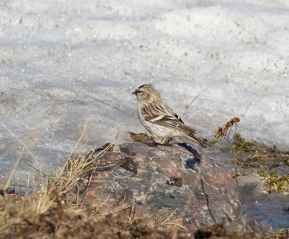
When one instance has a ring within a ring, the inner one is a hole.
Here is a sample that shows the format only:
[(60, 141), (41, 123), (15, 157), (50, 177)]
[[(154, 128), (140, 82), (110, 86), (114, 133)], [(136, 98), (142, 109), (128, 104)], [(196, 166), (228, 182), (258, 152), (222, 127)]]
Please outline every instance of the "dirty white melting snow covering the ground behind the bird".
[[(112, 141), (124, 123), (116, 143), (144, 132), (130, 116), (145, 83), (200, 137), (237, 116), (245, 139), (289, 150), (287, 0), (0, 2), (3, 184), (20, 140), (51, 172), (86, 120), (81, 147)], [(24, 162), (27, 151), (15, 184), (33, 171)]]

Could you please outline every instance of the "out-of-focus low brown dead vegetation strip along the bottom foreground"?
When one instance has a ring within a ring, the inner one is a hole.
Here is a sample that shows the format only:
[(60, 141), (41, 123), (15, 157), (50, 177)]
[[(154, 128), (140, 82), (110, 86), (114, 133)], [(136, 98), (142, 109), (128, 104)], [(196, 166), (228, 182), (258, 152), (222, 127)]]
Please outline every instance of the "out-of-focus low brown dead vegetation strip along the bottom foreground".
[[(0, 238), (269, 238), (254, 232), (229, 232), (224, 224), (184, 230), (167, 221), (153, 226), (141, 221), (122, 221), (63, 203), (57, 189), (49, 189), (15, 201), (0, 198)], [(170, 226), (167, 228), (167, 226)], [(162, 229), (162, 228), (163, 229)]]

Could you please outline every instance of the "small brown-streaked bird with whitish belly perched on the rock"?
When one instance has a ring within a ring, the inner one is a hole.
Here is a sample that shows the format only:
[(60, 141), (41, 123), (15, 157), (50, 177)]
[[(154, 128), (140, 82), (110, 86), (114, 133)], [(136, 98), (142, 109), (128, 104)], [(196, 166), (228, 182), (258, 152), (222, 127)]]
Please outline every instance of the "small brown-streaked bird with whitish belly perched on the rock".
[(161, 99), (156, 88), (144, 84), (132, 93), (137, 98), (137, 113), (143, 126), (155, 137), (155, 142), (169, 143), (174, 137), (195, 141), (202, 147), (208, 146), (207, 140), (199, 139), (196, 130), (188, 127), (182, 119)]

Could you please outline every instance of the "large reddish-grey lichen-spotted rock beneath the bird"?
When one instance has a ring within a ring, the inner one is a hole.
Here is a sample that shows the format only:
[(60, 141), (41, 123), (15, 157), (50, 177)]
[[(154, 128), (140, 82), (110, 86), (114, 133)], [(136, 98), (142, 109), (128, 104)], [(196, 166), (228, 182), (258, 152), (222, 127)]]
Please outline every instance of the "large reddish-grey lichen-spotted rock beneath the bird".
[(195, 219), (214, 224), (225, 218), (228, 229), (243, 226), (231, 174), (194, 146), (119, 144), (98, 164), (109, 167), (94, 171), (87, 190), (91, 172), (82, 175), (78, 202), (85, 195), (84, 202), (102, 213), (132, 205), (118, 215), (155, 225), (168, 218), (165, 223), (181, 219), (176, 223), (185, 228), (194, 225)]

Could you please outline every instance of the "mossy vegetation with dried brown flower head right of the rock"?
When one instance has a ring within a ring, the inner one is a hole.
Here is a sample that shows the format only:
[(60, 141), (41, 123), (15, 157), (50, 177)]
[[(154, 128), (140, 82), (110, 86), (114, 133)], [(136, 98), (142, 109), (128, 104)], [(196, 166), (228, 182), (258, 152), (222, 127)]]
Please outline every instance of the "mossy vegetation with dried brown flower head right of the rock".
[[(268, 192), (276, 191), (288, 191), (289, 190), (289, 174), (280, 175), (274, 168), (285, 164), (289, 166), (289, 152), (278, 152), (277, 146), (267, 147), (265, 144), (260, 144), (257, 141), (247, 141), (237, 132), (237, 125), (240, 122), (240, 118), (234, 117), (226, 124), (218, 127), (213, 136), (215, 138), (225, 139), (230, 145), (226, 150), (233, 155), (233, 160), (227, 162), (228, 164), (235, 164), (235, 171), (232, 172), (232, 177), (235, 178), (238, 185), (237, 177), (240, 176), (240, 172), (237, 170), (237, 166), (242, 168), (260, 168), (258, 173), (254, 173), (264, 180), (265, 183), (270, 185)], [(231, 132), (234, 132), (233, 136)], [(247, 176), (243, 173), (242, 176)], [(256, 186), (255, 186), (256, 187)], [(265, 233), (265, 229), (253, 217), (251, 210), (247, 204), (246, 199), (239, 187), (237, 187), (246, 208), (252, 217), (253, 222), (258, 226), (260, 231)], [(270, 238), (289, 238), (289, 228), (279, 229), (278, 231), (267, 231)]]

